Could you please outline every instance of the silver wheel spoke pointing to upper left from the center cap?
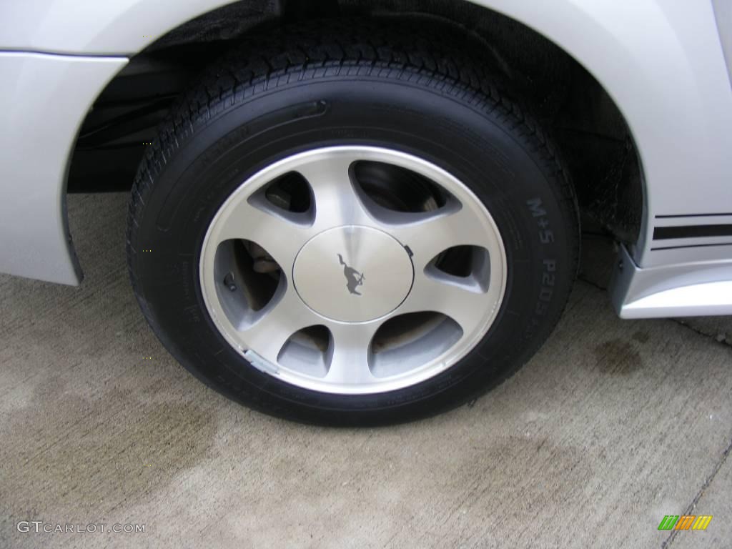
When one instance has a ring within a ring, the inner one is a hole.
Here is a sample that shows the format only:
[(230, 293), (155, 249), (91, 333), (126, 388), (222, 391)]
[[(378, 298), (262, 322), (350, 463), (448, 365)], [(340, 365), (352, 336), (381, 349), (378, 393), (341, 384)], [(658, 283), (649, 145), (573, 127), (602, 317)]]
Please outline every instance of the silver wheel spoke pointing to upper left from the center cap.
[(298, 250), (313, 235), (312, 227), (297, 223), (288, 217), (288, 212), (276, 212), (274, 207), (267, 211), (266, 205), (260, 208), (245, 200), (232, 207), (234, 209), (220, 225), (218, 242), (228, 239), (250, 240), (263, 247), (284, 272), (292, 272)]

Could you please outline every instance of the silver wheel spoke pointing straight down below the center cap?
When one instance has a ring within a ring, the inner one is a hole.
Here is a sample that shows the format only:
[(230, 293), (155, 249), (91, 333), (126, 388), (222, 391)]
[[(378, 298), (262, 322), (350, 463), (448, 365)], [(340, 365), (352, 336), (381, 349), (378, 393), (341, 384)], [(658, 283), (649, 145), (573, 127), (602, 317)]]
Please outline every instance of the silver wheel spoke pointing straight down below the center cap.
[(370, 384), (376, 381), (368, 365), (373, 335), (380, 323), (329, 324), (332, 335), (325, 381), (333, 384)]

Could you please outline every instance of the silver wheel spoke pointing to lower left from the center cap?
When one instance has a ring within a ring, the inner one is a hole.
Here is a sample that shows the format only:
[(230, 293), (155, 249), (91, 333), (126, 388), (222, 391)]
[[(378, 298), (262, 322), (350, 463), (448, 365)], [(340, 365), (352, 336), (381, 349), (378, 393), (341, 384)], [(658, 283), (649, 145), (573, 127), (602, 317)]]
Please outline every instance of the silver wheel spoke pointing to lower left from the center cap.
[(255, 322), (240, 329), (239, 335), (248, 348), (276, 364), (288, 338), (300, 329), (318, 324), (318, 319), (302, 304), (292, 288), (285, 288), (283, 296), (277, 299), (275, 295), (272, 301), (273, 305), (261, 310)]

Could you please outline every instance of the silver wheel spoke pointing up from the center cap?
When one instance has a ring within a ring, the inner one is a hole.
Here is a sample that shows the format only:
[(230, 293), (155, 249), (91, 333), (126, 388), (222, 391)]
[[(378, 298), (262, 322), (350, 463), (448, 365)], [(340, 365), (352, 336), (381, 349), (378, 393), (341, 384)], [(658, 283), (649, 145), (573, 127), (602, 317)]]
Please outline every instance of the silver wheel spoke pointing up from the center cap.
[(339, 225), (370, 225), (371, 217), (356, 194), (348, 170), (352, 157), (334, 155), (312, 160), (297, 168), (313, 189), (315, 227), (324, 230)]

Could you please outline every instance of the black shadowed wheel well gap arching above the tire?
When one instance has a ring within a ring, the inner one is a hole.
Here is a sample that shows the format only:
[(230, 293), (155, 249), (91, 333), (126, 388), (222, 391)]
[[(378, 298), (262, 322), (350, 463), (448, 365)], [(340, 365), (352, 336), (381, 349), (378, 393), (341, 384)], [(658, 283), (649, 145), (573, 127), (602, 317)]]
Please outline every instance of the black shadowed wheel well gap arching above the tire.
[[(641, 165), (602, 85), (567, 52), (516, 20), (465, 0), (242, 0), (183, 23), (132, 56), (83, 122), (70, 192), (125, 190), (173, 100), (212, 59), (254, 32), (328, 17), (405, 18), (459, 26), (472, 48), (531, 104), (569, 166), (580, 208), (616, 238), (641, 228)], [(104, 182), (100, 184), (99, 182)]]

